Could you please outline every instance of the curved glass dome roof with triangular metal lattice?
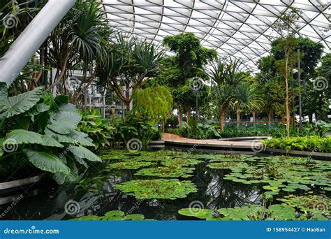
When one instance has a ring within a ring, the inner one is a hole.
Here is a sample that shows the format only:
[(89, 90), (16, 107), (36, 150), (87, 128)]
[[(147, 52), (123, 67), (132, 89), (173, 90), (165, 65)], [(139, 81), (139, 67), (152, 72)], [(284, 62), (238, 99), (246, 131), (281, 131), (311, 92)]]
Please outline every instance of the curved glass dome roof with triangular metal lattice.
[(290, 6), (299, 9), (301, 36), (331, 48), (330, 0), (103, 0), (109, 24), (161, 43), (168, 35), (193, 32), (221, 57), (242, 59), (255, 72), (256, 61), (279, 35), (273, 23)]

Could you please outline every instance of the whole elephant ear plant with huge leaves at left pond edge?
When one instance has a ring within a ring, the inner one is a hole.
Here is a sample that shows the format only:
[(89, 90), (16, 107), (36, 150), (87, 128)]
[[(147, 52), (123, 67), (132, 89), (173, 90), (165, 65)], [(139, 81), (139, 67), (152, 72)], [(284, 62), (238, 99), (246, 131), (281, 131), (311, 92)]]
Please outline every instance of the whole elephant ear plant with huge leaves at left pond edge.
[[(42, 87), (8, 97), (0, 94), (0, 161), (29, 161), (50, 173), (59, 184), (79, 178), (87, 161), (101, 161), (86, 147), (94, 147), (86, 133), (78, 131), (81, 116), (68, 96), (53, 98)], [(78, 163), (78, 164), (77, 164)]]

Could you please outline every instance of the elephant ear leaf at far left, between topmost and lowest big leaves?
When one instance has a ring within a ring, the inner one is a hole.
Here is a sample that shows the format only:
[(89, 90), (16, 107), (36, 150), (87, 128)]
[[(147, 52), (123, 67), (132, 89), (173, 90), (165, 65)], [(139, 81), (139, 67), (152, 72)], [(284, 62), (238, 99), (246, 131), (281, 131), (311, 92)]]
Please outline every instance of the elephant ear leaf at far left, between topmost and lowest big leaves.
[(13, 140), (16, 145), (21, 145), (24, 143), (36, 143), (36, 144), (43, 143), (41, 134), (32, 131), (27, 131), (25, 129), (15, 129), (10, 133), (7, 133), (6, 140), (9, 139)]

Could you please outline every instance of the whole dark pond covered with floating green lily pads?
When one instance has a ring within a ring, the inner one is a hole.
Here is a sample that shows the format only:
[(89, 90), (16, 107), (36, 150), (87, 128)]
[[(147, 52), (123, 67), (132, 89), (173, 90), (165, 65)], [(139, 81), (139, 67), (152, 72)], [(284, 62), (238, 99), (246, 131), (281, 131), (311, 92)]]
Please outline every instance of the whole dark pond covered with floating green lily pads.
[[(47, 183), (43, 189), (23, 193), (13, 208), (10, 204), (1, 205), (2, 211), (10, 208), (3, 219), (232, 220), (330, 216), (330, 161), (122, 150), (103, 151), (100, 157), (103, 164), (94, 164), (79, 183)], [(90, 216), (82, 217), (87, 215)]]

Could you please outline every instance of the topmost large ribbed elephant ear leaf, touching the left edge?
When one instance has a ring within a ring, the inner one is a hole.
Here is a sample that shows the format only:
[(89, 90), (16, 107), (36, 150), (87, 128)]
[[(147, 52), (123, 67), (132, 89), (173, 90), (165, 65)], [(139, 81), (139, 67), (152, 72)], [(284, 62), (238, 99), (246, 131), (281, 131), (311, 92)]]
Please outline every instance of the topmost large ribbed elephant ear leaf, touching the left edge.
[(38, 103), (42, 94), (43, 87), (38, 87), (31, 92), (25, 92), (4, 99), (1, 101), (1, 109), (3, 112), (1, 113), (0, 118), (9, 118), (26, 112)]

